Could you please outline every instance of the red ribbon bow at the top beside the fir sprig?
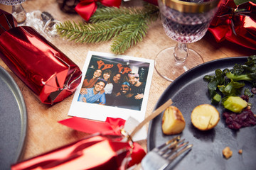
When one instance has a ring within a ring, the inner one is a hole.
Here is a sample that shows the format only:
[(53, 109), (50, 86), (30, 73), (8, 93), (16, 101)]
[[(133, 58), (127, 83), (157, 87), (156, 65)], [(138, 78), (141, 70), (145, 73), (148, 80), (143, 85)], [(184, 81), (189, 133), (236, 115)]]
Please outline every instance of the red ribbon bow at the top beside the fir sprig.
[(85, 21), (89, 21), (90, 17), (97, 9), (97, 1), (104, 6), (119, 7), (121, 5), (121, 0), (80, 0), (80, 3), (75, 6), (75, 11), (84, 18)]

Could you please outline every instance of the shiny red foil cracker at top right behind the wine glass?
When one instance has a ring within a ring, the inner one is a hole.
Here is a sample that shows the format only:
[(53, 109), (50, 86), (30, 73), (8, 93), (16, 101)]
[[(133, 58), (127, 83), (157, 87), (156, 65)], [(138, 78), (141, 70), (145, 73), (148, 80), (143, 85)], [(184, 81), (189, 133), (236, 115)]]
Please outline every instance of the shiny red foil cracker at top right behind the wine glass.
[(223, 0), (208, 30), (217, 42), (228, 40), (256, 50), (256, 4), (237, 6), (233, 0)]

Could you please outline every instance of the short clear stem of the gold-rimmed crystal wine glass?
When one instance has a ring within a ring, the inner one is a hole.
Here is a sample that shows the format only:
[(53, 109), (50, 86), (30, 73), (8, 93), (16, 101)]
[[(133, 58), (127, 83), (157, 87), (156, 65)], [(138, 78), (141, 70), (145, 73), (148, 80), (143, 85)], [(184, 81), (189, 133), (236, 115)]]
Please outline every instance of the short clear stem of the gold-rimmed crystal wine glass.
[(185, 43), (178, 42), (174, 48), (175, 61), (178, 63), (185, 62), (188, 57), (188, 45)]

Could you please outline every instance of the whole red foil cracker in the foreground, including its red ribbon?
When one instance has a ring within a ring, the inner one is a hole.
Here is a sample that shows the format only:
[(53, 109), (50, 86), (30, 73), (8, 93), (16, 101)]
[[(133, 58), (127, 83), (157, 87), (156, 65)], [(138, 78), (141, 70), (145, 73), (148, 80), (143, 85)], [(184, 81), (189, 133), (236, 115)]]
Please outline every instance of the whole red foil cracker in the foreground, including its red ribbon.
[(90, 133), (82, 140), (65, 145), (37, 157), (11, 166), (12, 170), (26, 169), (111, 169), (122, 170), (139, 164), (146, 155), (142, 146), (125, 135), (121, 118), (105, 122), (84, 118), (68, 118), (59, 123), (74, 130)]

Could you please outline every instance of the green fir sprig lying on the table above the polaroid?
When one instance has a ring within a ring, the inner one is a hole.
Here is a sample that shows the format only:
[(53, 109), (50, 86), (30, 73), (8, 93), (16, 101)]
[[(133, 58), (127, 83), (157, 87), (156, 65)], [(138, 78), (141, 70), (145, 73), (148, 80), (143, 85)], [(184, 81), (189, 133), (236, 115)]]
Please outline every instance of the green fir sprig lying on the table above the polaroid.
[(148, 24), (159, 17), (159, 8), (98, 8), (90, 23), (65, 21), (57, 25), (58, 33), (75, 42), (94, 43), (112, 39), (111, 50), (122, 54), (146, 36)]

